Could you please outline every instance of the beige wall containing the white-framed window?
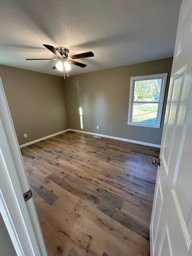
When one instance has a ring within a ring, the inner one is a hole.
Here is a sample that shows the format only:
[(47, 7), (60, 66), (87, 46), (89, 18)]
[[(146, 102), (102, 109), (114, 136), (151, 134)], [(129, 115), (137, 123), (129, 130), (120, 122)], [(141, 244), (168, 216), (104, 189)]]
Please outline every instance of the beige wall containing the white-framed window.
[[(127, 125), (130, 77), (168, 72), (169, 82), (171, 67), (172, 58), (166, 58), (67, 78), (65, 88), (69, 127), (81, 130), (81, 106), (84, 131), (160, 144), (162, 127)], [(167, 91), (168, 86), (166, 94)], [(164, 115), (161, 124), (163, 120)], [(97, 125), (99, 130), (96, 129)]]

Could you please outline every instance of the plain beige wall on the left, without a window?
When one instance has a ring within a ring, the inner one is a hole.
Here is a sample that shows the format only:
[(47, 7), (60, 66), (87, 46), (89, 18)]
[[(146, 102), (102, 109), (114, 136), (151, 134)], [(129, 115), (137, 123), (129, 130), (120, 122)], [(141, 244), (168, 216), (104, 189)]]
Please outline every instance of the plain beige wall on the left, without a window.
[(3, 65), (0, 76), (20, 145), (69, 128), (62, 77)]

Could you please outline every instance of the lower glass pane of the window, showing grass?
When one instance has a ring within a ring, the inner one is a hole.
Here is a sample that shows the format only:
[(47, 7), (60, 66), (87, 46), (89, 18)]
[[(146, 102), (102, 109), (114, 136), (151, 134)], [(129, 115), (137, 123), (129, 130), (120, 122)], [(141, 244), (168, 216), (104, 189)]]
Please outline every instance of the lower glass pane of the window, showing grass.
[(158, 103), (133, 103), (132, 122), (156, 124)]

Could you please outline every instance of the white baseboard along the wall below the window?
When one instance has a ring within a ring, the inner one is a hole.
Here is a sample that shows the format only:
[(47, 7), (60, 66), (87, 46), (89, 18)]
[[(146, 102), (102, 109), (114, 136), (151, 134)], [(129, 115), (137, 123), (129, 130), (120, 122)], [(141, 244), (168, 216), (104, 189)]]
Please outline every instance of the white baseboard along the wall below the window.
[(129, 139), (125, 139), (125, 138), (119, 138), (119, 137), (114, 137), (114, 136), (109, 136), (109, 135), (104, 135), (104, 134), (98, 134), (98, 133), (94, 133), (94, 132), (85, 132), (85, 131), (74, 130), (74, 129), (69, 129), (69, 130), (73, 131), (73, 132), (81, 132), (81, 133), (85, 133), (85, 134), (96, 135), (96, 136), (109, 138), (109, 139), (114, 139), (114, 140), (122, 140), (122, 141), (131, 142), (131, 143), (135, 143), (135, 144), (140, 144), (140, 145), (144, 145), (144, 146), (150, 146), (150, 147), (154, 147), (154, 148), (160, 148), (161, 147), (161, 145), (159, 145), (159, 144), (152, 144), (152, 143), (142, 142), (142, 141), (137, 141), (137, 140), (129, 140)]

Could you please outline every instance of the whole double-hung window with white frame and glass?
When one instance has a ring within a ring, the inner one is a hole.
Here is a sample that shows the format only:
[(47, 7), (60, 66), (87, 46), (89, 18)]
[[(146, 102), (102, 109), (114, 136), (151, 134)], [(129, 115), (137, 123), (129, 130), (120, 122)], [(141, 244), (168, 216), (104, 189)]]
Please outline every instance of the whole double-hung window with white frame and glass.
[(127, 124), (160, 128), (167, 74), (131, 77)]

